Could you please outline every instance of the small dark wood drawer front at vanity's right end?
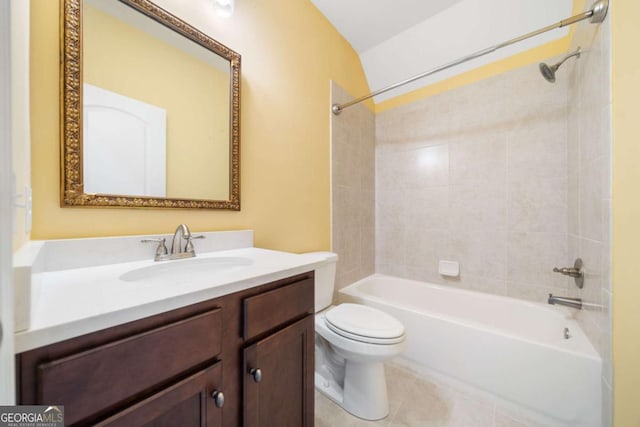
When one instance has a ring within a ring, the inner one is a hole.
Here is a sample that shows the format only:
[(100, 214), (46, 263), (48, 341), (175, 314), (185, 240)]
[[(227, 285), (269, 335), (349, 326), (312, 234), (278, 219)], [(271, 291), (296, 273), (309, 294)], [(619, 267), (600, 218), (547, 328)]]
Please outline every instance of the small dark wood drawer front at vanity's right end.
[(312, 314), (313, 298), (313, 277), (245, 298), (243, 338), (251, 339), (291, 320)]

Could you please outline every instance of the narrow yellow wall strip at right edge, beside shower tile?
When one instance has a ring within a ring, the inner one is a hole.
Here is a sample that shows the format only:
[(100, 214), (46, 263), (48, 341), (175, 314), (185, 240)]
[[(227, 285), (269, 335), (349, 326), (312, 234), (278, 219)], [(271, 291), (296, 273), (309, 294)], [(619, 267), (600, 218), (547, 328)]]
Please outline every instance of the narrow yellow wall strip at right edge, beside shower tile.
[(640, 2), (612, 2), (613, 395), (619, 427), (640, 426)]

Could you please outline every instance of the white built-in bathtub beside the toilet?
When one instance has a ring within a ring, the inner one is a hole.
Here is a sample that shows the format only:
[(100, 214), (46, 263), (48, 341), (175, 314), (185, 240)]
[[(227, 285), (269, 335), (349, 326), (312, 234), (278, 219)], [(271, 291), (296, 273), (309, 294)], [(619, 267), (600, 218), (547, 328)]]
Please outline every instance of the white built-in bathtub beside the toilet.
[(602, 361), (569, 309), (378, 274), (339, 299), (400, 320), (412, 364), (559, 425), (600, 425)]

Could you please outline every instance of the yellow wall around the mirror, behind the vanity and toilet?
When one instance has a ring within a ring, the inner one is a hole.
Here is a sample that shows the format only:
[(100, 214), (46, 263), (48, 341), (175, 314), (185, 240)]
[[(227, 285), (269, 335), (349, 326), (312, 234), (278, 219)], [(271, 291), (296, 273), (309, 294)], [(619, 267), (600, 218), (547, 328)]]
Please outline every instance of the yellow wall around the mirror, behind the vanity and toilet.
[[(32, 238), (254, 229), (256, 245), (329, 249), (329, 80), (366, 93), (351, 46), (309, 1), (238, 1), (223, 20), (205, 0), (181, 17), (242, 55), (242, 211), (59, 207), (59, 3), (32, 0)], [(206, 27), (205, 27), (206, 26)]]

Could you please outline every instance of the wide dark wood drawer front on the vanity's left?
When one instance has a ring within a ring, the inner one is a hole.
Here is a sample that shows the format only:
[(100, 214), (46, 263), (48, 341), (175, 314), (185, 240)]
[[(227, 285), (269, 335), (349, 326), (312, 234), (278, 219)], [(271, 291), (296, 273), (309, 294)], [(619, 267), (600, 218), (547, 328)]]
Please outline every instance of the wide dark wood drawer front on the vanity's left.
[(37, 399), (65, 406), (72, 424), (117, 407), (222, 351), (222, 310), (214, 309), (37, 367)]

